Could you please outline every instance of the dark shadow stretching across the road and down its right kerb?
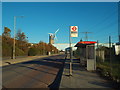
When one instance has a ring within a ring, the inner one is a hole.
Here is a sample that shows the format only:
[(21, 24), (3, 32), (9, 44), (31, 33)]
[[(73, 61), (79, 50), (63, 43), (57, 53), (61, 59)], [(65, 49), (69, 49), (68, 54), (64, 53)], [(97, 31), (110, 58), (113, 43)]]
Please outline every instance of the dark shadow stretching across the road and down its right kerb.
[[(45, 58), (45, 59), (43, 59), (43, 61), (35, 60), (35, 61), (24, 62), (22, 64), (38, 64), (38, 65), (46, 65), (46, 66), (58, 68), (59, 71), (56, 75), (55, 80), (48, 86), (48, 88), (50, 88), (50, 89), (53, 89), (53, 88), (58, 89), (59, 85), (60, 85), (61, 78), (62, 78), (64, 63), (65, 63), (65, 59)], [(34, 69), (34, 68), (30, 68), (30, 69)], [(36, 70), (36, 69), (34, 69), (34, 70)]]

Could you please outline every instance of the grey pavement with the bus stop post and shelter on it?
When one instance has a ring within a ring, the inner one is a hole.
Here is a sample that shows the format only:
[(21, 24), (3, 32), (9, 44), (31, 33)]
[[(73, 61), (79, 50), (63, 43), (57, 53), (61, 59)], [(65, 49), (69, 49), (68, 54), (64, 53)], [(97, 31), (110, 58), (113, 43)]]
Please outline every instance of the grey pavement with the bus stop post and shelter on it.
[(72, 76), (69, 76), (69, 59), (66, 60), (59, 88), (108, 88), (112, 82), (105, 80), (96, 72), (87, 71), (79, 59), (73, 59)]

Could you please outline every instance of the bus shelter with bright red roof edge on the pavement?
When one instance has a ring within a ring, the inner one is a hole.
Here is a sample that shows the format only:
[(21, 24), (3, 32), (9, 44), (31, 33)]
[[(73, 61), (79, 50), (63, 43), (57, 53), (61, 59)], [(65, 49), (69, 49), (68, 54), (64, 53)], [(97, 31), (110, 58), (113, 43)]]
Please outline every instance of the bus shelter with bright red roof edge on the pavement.
[(79, 52), (80, 63), (87, 67), (88, 71), (96, 70), (96, 55), (94, 41), (80, 41), (75, 47)]

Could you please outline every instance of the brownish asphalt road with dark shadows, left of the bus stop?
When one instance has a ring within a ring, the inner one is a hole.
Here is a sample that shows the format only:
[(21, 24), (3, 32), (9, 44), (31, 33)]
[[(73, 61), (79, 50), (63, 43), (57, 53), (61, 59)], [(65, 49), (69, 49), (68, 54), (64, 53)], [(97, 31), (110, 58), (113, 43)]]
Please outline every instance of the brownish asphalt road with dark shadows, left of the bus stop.
[(64, 58), (56, 55), (4, 66), (3, 88), (59, 88)]

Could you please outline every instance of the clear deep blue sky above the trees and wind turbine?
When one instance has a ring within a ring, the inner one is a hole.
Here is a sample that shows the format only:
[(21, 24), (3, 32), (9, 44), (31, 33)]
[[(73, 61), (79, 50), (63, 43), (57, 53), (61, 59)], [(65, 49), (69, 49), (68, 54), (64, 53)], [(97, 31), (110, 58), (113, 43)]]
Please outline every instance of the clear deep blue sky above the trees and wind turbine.
[(79, 27), (79, 37), (72, 38), (76, 43), (88, 34), (89, 40), (99, 40), (107, 43), (108, 36), (112, 36), (112, 42), (118, 40), (118, 10), (116, 2), (3, 2), (2, 26), (12, 30), (13, 17), (17, 18), (16, 28), (21, 29), (28, 37), (29, 42), (48, 43), (48, 33), (54, 33), (58, 28), (58, 41), (56, 43), (69, 42), (69, 26)]

